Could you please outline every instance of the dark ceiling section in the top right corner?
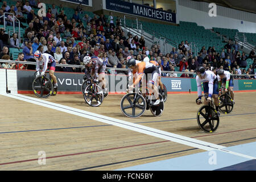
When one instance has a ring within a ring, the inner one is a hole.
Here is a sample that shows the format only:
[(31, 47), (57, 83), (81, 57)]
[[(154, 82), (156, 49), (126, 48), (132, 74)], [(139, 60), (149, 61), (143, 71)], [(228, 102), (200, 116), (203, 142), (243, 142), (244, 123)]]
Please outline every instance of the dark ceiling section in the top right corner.
[(256, 1), (255, 0), (192, 0), (208, 3), (216, 3), (216, 5), (229, 7), (231, 9), (247, 11), (256, 14)]

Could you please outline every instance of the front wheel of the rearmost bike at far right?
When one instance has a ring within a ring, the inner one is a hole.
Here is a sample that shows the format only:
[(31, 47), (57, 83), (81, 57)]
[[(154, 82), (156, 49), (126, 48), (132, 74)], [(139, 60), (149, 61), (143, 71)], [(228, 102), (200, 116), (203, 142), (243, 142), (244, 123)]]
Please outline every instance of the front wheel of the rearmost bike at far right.
[(220, 101), (219, 104), (219, 110), (223, 114), (229, 114), (233, 110), (233, 100), (228, 94), (222, 94), (220, 97), (218, 97), (218, 100)]

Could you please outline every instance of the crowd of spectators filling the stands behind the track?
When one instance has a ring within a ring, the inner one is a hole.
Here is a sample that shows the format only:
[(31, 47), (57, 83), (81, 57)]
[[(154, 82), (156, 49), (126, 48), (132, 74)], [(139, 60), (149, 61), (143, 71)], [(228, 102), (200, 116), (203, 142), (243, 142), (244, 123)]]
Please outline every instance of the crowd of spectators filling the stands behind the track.
[[(162, 71), (184, 72), (181, 77), (195, 77), (187, 72), (195, 72), (199, 65), (214, 72), (223, 68), (232, 73), (244, 75), (253, 75), (256, 68), (254, 50), (247, 57), (245, 53), (240, 53), (237, 42), (232, 44), (229, 41), (222, 52), (217, 52), (214, 46), (208, 49), (202, 47), (198, 56), (195, 56), (197, 54), (189, 49), (188, 41), (182, 41), (178, 48), (173, 48), (170, 53), (163, 55), (159, 45), (147, 47), (143, 36), (139, 38), (137, 35), (125, 34), (119, 19), (114, 21), (112, 13), (109, 14), (108, 19), (104, 14), (94, 15), (92, 18), (83, 13), (80, 4), (75, 9), (72, 19), (68, 19), (64, 6), (60, 5), (56, 8), (53, 4), (47, 10), (46, 16), (38, 16), (32, 9), (32, 7), (36, 8), (38, 3), (40, 1), (37, 3), (35, 0), (17, 1), (15, 6), (9, 7), (3, 1), (0, 16), (5, 12), (13, 13), (21, 22), (26, 22), (28, 27), (26, 27), (22, 45), (19, 45), (17, 34), (14, 33), (9, 39), (9, 35), (1, 29), (0, 59), (12, 59), (9, 48), (18, 48), (23, 51), (19, 53), (17, 60), (35, 61), (33, 54), (39, 49), (54, 56), (59, 64), (83, 65), (84, 56), (90, 55), (100, 57), (107, 68), (126, 68), (127, 56), (133, 56), (139, 61), (143, 61), (144, 57), (148, 56), (150, 60), (159, 63)], [(24, 19), (24, 14), (27, 14), (27, 19)], [(12, 25), (12, 17), (9, 18), (8, 23)], [(0, 24), (3, 24), (2, 19)], [(254, 59), (254, 63), (246, 70), (248, 58)], [(35, 69), (35, 66), (26, 64), (6, 66), (4, 63), (2, 67)], [(63, 67), (56, 67), (56, 71), (82, 72), (84, 69), (63, 65)], [(117, 73), (126, 72), (117, 71)], [(177, 74), (162, 73), (162, 76), (175, 77)]]

